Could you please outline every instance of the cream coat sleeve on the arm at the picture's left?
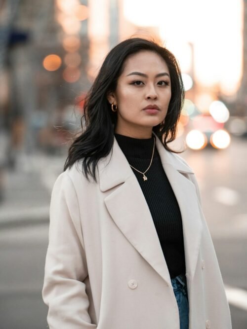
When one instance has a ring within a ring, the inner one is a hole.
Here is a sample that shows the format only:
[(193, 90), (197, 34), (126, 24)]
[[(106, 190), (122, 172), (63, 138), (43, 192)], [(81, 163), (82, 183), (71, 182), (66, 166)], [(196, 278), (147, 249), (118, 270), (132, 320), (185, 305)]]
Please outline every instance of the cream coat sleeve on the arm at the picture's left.
[(50, 329), (97, 328), (91, 324), (87, 311), (89, 301), (83, 283), (87, 275), (77, 194), (64, 172), (57, 178), (51, 194), (42, 289)]

